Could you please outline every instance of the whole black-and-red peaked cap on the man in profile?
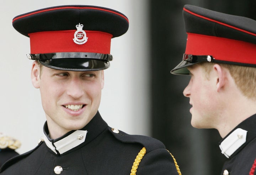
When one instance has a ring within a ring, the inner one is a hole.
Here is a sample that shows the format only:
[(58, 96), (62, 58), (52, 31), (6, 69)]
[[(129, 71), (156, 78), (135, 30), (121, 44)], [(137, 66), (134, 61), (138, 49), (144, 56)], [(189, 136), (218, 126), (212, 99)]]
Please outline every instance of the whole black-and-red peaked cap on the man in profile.
[(198, 62), (256, 67), (256, 21), (197, 6), (185, 5), (183, 19), (188, 34), (183, 61), (171, 70), (189, 74)]

